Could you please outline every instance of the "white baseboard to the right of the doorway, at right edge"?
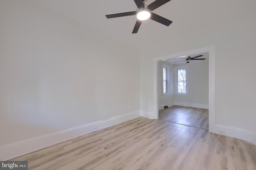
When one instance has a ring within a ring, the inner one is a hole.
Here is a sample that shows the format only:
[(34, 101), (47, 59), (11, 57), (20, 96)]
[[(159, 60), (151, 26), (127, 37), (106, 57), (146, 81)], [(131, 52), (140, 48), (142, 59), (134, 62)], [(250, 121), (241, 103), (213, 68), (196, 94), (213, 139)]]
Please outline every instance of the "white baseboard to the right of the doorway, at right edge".
[(242, 139), (256, 145), (256, 133), (245, 129), (215, 124), (212, 133)]

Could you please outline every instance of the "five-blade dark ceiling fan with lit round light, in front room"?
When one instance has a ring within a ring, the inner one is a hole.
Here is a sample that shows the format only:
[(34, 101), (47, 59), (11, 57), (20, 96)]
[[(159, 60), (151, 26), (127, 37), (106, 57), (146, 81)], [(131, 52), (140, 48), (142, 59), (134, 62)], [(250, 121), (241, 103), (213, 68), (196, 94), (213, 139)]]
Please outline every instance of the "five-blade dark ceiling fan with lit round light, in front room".
[(169, 26), (172, 23), (172, 21), (167, 20), (166, 18), (163, 18), (163, 17), (152, 12), (156, 8), (166, 4), (169, 1), (170, 0), (156, 0), (147, 6), (146, 4), (144, 4), (144, 2), (145, 2), (144, 0), (134, 0), (136, 6), (138, 7), (136, 11), (123, 12), (123, 13), (118, 13), (118, 14), (110, 14), (110, 15), (106, 15), (106, 17), (107, 18), (117, 18), (117, 17), (123, 17), (123, 16), (136, 15), (137, 21), (135, 23), (132, 33), (137, 33), (142, 21), (148, 20), (148, 19), (151, 19), (151, 20), (157, 21), (159, 23), (162, 23), (166, 26)]

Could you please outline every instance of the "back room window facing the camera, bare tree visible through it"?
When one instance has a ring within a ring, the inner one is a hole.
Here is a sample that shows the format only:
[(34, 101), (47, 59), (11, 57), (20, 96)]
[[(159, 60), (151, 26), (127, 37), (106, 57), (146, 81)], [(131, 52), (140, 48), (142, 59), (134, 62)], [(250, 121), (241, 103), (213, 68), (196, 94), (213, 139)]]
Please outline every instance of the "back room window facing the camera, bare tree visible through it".
[(176, 95), (188, 94), (187, 69), (188, 66), (179, 66), (175, 69)]

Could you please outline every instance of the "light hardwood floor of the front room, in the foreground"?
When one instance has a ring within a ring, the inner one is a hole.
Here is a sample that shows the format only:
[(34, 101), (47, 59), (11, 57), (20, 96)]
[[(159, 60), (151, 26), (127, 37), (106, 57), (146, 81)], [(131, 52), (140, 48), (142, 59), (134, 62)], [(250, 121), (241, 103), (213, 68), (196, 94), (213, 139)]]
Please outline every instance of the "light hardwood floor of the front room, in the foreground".
[(33, 170), (256, 170), (256, 146), (138, 117), (12, 160)]

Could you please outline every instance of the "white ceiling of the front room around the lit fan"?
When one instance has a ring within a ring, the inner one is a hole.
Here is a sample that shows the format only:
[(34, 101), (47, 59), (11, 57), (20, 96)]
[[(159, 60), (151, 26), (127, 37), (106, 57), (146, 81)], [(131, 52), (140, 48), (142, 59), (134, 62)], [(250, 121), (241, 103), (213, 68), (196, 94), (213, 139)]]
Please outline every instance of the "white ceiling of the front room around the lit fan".
[[(226, 1), (171, 0), (153, 12), (173, 21), (172, 24), (167, 27), (156, 21), (146, 20), (142, 22), (138, 33), (132, 34), (136, 16), (107, 19), (105, 15), (136, 10), (134, 0), (31, 0), (31, 2), (81, 23), (85, 26), (85, 33), (96, 31), (102, 38), (110, 41), (114, 39), (127, 48), (138, 49), (141, 55), (154, 57), (213, 45), (214, 39), (209, 37), (216, 37), (220, 30), (225, 31), (229, 17), (225, 16), (226, 6), (229, 5)], [(154, 0), (148, 0), (146, 4), (152, 2)], [(223, 2), (222, 5), (219, 5), (220, 2)], [(238, 22), (234, 20), (234, 23)]]

